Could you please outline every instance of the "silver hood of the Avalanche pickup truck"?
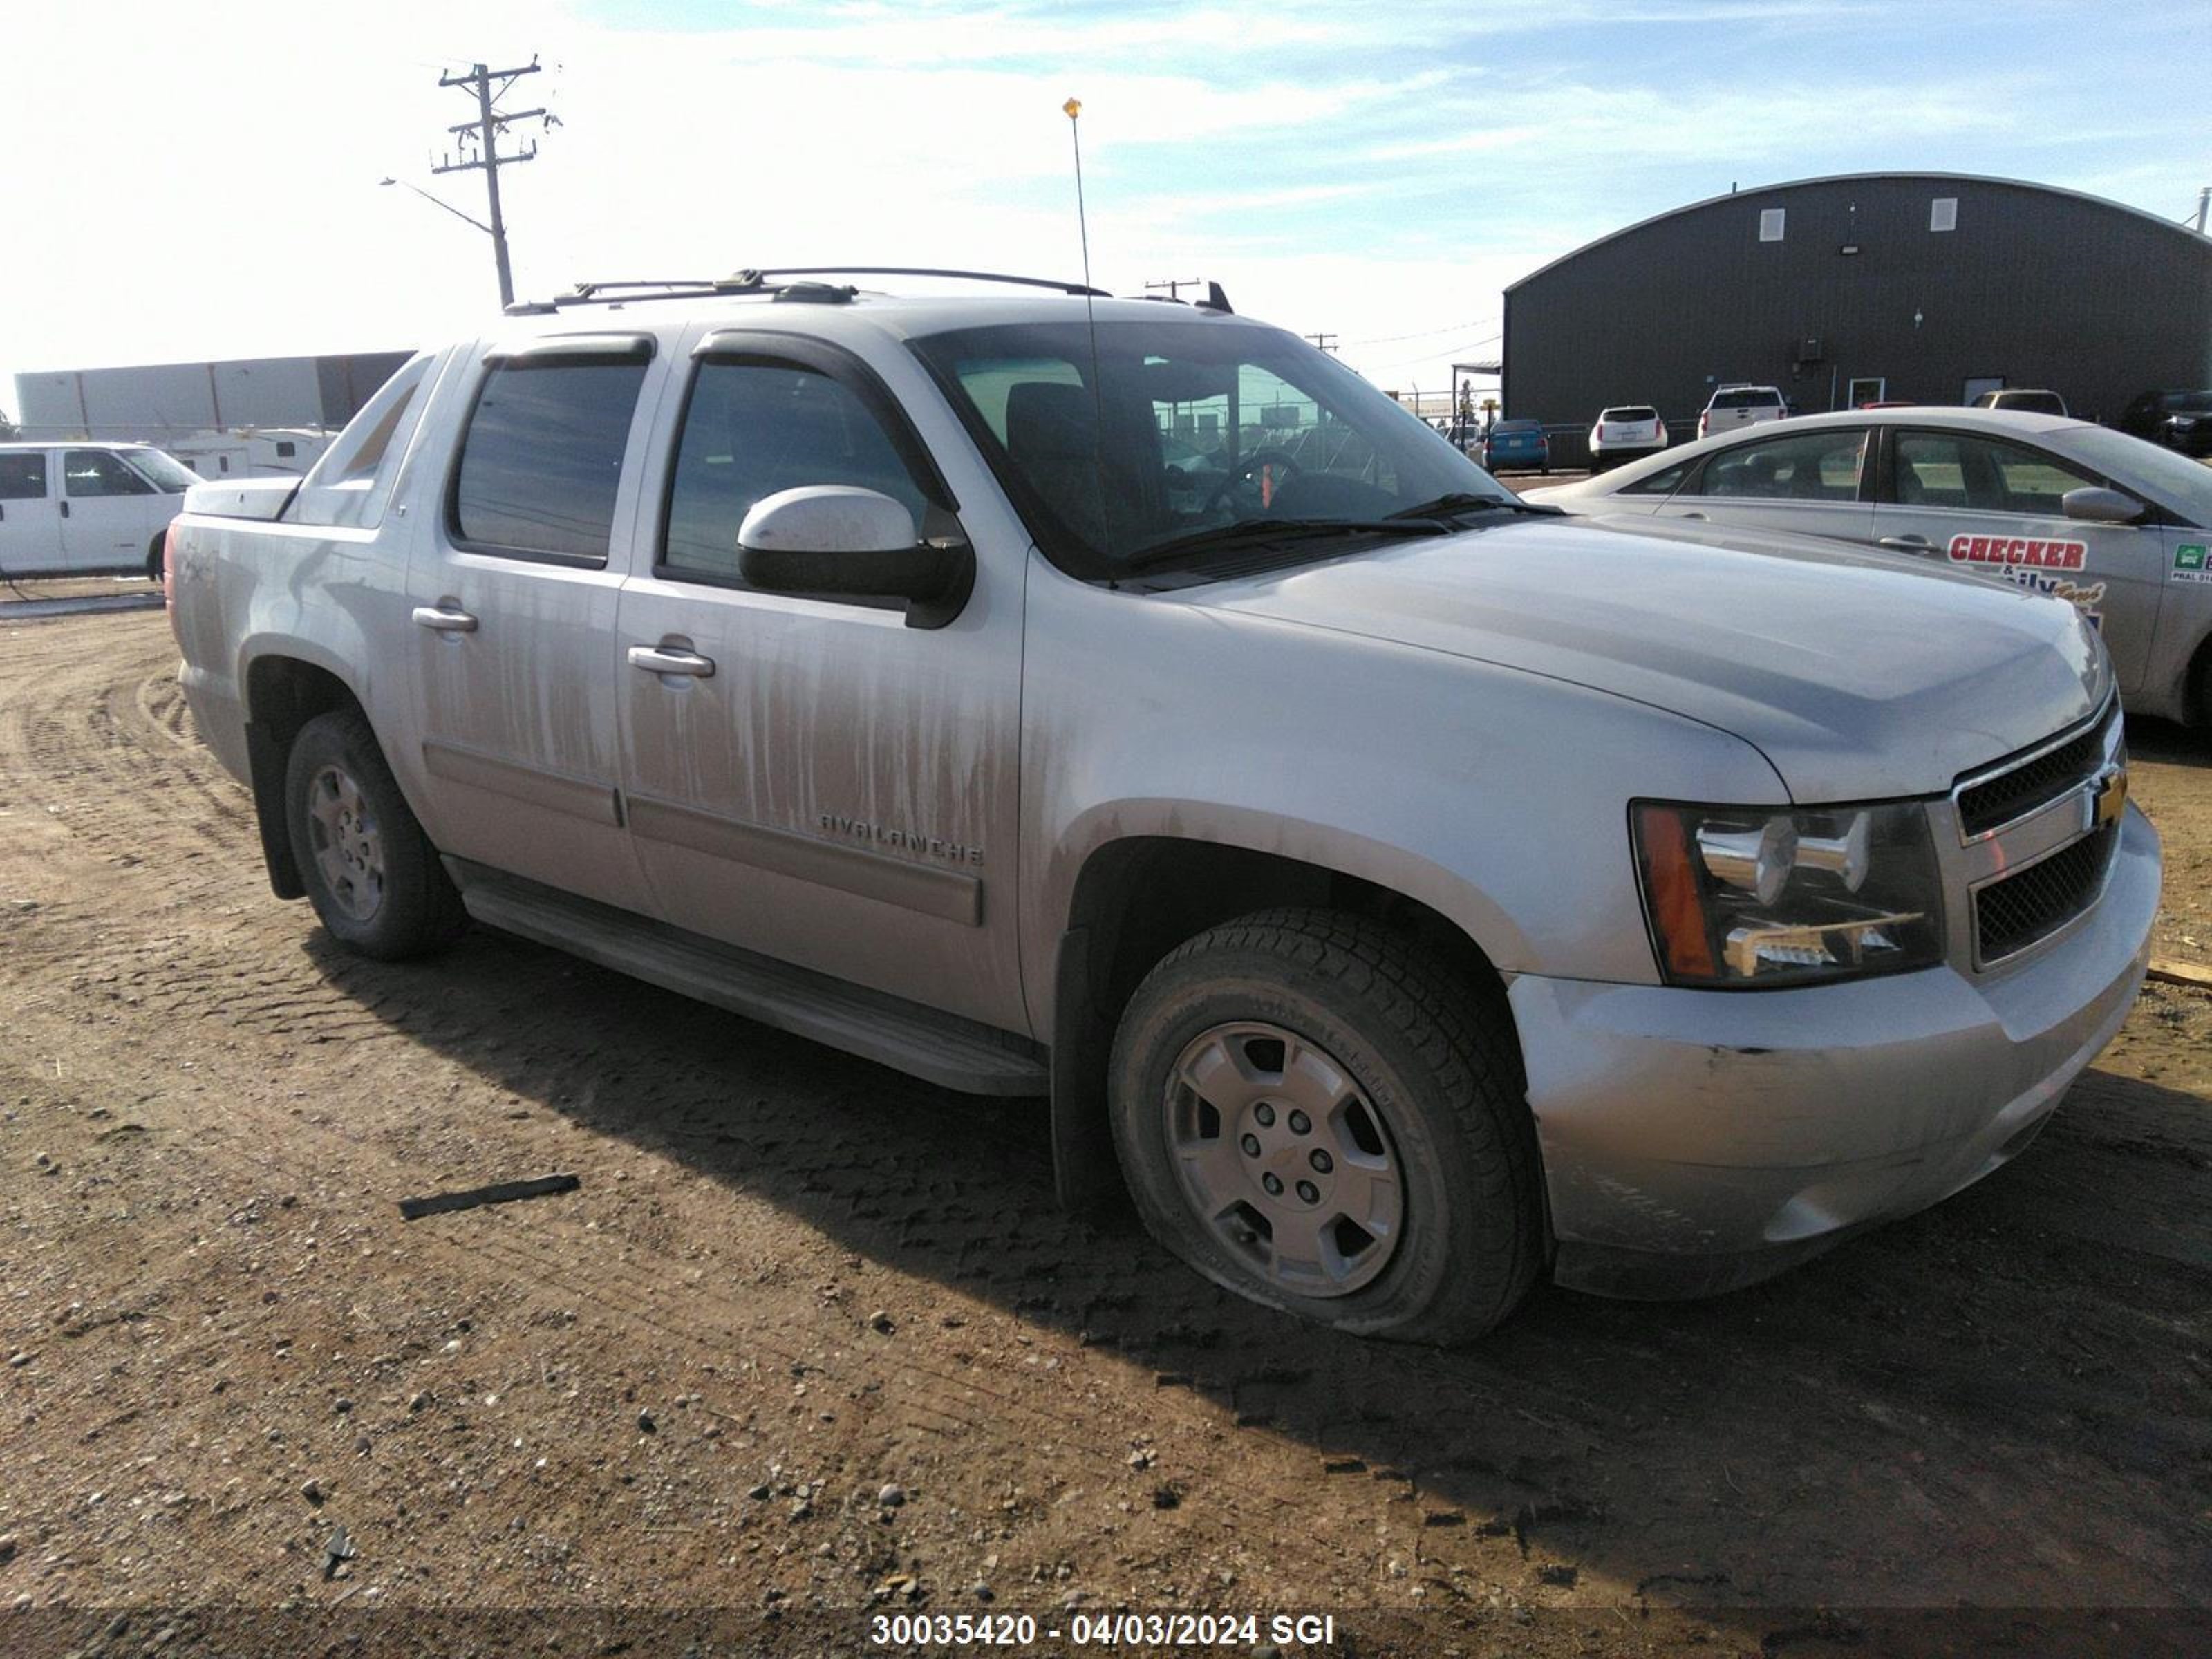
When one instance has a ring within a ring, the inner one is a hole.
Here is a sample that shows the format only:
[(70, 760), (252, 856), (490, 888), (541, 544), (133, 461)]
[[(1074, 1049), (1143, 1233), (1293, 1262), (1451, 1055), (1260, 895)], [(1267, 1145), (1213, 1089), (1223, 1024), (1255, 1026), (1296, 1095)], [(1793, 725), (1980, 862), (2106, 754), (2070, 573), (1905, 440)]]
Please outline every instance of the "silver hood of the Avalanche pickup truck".
[(1674, 520), (1515, 518), (1177, 597), (1666, 708), (1756, 745), (1796, 801), (1949, 790), (2110, 686), (2064, 599)]

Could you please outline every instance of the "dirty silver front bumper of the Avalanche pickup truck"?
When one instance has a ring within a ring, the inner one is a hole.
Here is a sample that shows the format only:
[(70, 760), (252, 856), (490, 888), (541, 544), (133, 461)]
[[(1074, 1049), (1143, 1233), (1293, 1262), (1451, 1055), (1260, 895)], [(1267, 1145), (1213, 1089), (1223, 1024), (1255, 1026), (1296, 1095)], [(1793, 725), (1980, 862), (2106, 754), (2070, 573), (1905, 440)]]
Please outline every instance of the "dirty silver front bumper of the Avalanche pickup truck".
[(1756, 1283), (1924, 1210), (2026, 1146), (2135, 1004), (2159, 836), (2132, 805), (2104, 898), (2011, 971), (1796, 991), (1522, 975), (1553, 1276), (1608, 1296)]

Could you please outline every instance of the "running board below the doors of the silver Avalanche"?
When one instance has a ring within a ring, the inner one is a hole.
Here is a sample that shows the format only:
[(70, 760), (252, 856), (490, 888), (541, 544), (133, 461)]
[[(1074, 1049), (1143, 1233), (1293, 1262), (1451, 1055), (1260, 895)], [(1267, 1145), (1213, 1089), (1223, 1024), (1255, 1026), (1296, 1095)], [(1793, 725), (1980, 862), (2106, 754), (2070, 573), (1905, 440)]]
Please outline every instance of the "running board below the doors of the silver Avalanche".
[(969, 1095), (1048, 1095), (1044, 1051), (1011, 1031), (741, 951), (613, 905), (447, 858), (469, 916), (666, 991)]

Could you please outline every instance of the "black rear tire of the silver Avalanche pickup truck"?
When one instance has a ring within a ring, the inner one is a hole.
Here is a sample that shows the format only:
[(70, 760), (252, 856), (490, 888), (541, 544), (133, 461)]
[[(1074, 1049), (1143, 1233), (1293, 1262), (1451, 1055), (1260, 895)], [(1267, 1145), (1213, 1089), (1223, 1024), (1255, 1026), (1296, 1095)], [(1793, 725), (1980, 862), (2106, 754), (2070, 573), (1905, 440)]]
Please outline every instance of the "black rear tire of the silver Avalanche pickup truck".
[[(343, 785), (352, 785), (354, 807), (341, 807), (347, 825), (338, 830), (323, 821), (321, 807), (343, 801)], [(383, 962), (453, 942), (467, 925), (460, 894), (356, 710), (316, 714), (301, 728), (285, 761), (283, 799), (292, 858), (334, 940)], [(367, 847), (374, 847), (374, 880), (367, 880)]]

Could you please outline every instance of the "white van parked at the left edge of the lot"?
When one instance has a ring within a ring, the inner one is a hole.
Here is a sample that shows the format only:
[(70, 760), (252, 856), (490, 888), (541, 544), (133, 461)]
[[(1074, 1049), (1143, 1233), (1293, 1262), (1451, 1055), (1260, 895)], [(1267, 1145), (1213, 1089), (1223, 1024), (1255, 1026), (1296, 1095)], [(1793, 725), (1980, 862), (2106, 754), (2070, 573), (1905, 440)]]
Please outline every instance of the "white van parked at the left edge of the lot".
[(161, 575), (199, 473), (148, 445), (0, 445), (0, 575)]

